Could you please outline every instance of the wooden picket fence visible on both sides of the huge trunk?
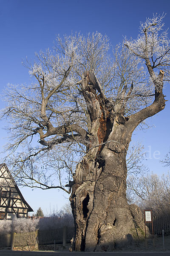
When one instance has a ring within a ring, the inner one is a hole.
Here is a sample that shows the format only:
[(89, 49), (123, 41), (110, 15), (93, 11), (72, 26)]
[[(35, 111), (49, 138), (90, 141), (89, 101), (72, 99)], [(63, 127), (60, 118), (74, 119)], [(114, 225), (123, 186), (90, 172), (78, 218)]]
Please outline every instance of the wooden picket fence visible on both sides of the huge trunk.
[[(152, 224), (147, 223), (152, 233)], [(154, 235), (170, 235), (170, 215), (153, 216), (153, 233)], [(0, 236), (0, 247), (13, 246), (31, 246), (35, 243), (39, 245), (47, 244), (67, 244), (74, 236), (74, 227), (63, 227), (55, 230), (37, 230), (27, 233), (13, 233)]]

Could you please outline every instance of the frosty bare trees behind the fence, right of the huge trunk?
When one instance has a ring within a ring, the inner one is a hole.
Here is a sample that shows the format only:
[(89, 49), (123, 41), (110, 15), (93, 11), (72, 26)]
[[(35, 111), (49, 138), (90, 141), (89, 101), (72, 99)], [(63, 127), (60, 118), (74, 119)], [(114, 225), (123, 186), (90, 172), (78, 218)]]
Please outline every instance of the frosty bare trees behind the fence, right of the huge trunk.
[(154, 173), (130, 175), (127, 180), (129, 201), (142, 209), (152, 209), (154, 215), (170, 214), (170, 174), (159, 177)]

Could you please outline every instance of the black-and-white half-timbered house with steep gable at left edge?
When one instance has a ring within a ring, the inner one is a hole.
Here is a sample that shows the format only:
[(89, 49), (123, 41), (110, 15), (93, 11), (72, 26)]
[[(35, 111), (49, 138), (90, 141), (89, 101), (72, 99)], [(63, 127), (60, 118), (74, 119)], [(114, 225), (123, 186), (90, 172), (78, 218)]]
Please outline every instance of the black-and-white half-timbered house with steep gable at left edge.
[(33, 209), (23, 198), (6, 164), (0, 164), (0, 220), (27, 217), (28, 212)]

